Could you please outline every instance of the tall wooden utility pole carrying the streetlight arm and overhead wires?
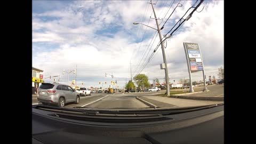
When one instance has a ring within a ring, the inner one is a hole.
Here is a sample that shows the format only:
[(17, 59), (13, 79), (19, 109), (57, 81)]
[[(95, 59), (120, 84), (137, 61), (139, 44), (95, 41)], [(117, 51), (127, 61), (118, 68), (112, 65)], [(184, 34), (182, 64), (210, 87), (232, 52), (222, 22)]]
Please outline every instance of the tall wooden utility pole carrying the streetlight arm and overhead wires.
[(164, 70), (165, 70), (165, 81), (166, 81), (166, 94), (167, 94), (167, 96), (170, 96), (169, 76), (168, 76), (167, 62), (166, 62), (166, 57), (165, 57), (165, 52), (164, 52), (163, 39), (162, 39), (161, 31), (160, 31), (160, 29), (159, 29), (159, 25), (158, 25), (156, 13), (155, 13), (154, 6), (153, 6), (153, 4), (152, 4), (152, 1), (150, 1), (150, 4), (151, 4), (151, 6), (152, 6), (152, 9), (153, 9), (153, 12), (154, 12), (154, 15), (155, 15), (157, 31), (158, 31), (158, 35), (159, 35), (160, 42), (161, 42), (161, 47), (162, 47), (163, 59), (164, 59), (164, 64), (165, 64), (165, 69), (164, 69)]

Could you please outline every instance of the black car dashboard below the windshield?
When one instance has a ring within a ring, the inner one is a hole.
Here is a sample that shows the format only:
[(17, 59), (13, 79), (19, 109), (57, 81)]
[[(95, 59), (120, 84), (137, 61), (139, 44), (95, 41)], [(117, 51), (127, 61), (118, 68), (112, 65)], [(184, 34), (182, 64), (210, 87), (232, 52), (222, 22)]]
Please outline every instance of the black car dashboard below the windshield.
[(224, 143), (224, 106), (171, 115), (77, 115), (32, 109), (33, 143)]

